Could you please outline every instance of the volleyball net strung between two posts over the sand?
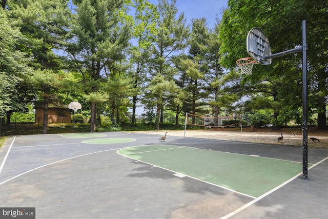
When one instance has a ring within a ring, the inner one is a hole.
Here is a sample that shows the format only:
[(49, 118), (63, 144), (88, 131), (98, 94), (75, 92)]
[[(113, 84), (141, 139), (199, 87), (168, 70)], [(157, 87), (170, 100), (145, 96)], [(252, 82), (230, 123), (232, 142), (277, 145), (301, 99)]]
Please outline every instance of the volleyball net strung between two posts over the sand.
[(204, 115), (195, 115), (186, 113), (185, 131), (187, 125), (200, 126), (205, 128), (226, 128), (240, 126), (241, 130), (241, 116), (219, 116), (211, 117)]

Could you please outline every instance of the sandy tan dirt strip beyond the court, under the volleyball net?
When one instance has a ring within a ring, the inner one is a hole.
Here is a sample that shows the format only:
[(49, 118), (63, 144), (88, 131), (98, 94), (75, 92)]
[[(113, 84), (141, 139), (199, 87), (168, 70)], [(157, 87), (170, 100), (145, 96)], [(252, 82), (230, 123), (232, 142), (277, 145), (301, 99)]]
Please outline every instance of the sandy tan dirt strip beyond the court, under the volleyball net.
[[(171, 136), (181, 136), (183, 137), (185, 131), (175, 131), (175, 130), (160, 130), (160, 131), (135, 131), (138, 133), (151, 133), (157, 135), (167, 134), (167, 141)], [(282, 132), (283, 140), (281, 142), (277, 141), (277, 138)], [(293, 134), (296, 133), (296, 134)], [(265, 143), (265, 144), (278, 144), (278, 145), (294, 145), (302, 147), (303, 136), (301, 128), (285, 128), (279, 131), (273, 131), (272, 129), (255, 129), (251, 131), (249, 128), (242, 129), (208, 129), (208, 130), (187, 130), (186, 137), (197, 137), (197, 138), (208, 138), (215, 140), (227, 140), (227, 141), (238, 141), (238, 142), (253, 142), (253, 143)], [(308, 129), (308, 138), (316, 137), (320, 142), (313, 142), (308, 139), (308, 147), (316, 148), (327, 148), (328, 149), (328, 130), (318, 130), (316, 128)]]

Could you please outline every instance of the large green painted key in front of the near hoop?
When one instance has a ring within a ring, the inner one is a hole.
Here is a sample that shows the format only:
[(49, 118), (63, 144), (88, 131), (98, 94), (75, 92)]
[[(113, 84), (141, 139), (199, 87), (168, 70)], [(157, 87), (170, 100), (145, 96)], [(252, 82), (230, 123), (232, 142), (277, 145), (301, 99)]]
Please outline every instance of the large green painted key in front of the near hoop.
[(302, 169), (299, 162), (174, 145), (131, 147), (118, 153), (251, 197), (274, 189)]

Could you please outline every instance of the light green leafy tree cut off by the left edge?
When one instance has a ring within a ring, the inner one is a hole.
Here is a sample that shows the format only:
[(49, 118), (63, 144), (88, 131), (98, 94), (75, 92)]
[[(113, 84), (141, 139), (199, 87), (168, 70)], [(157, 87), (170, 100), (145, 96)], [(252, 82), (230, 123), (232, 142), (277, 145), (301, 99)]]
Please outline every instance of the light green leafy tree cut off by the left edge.
[(4, 116), (22, 108), (17, 87), (30, 71), (27, 53), (18, 49), (27, 40), (18, 24), (19, 21), (8, 17), (8, 11), (0, 8), (0, 133)]

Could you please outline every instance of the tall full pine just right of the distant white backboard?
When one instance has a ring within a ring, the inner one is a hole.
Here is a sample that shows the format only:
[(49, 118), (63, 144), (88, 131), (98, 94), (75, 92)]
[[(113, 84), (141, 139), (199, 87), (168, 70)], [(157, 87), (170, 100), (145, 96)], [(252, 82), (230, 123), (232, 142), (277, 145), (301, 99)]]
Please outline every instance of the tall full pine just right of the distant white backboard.
[(94, 132), (97, 105), (108, 99), (108, 95), (100, 89), (101, 83), (119, 72), (116, 64), (125, 58), (131, 24), (125, 1), (82, 0), (73, 3), (76, 5), (76, 19), (66, 51), (72, 69), (83, 75), (81, 83), (84, 84), (85, 98), (91, 105), (90, 131)]

